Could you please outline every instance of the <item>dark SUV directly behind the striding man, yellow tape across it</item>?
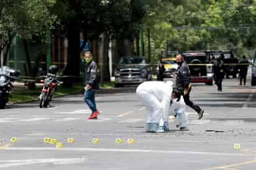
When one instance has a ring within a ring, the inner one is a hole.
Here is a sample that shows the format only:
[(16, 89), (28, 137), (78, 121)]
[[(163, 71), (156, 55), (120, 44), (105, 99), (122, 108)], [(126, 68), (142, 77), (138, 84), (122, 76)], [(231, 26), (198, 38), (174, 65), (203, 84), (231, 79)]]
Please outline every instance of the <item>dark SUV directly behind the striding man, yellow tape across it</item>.
[(192, 83), (206, 83), (213, 86), (213, 64), (204, 51), (185, 51), (183, 54), (190, 68)]

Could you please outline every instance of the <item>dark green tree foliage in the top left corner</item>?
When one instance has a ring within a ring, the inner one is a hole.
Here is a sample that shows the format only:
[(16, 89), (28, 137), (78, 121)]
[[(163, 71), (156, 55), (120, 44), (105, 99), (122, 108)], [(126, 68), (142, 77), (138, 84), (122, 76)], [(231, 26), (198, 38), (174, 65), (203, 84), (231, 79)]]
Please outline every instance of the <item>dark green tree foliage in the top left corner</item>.
[(50, 15), (54, 0), (4, 0), (0, 2), (0, 45), (19, 35), (29, 39), (33, 35), (45, 37), (56, 16)]

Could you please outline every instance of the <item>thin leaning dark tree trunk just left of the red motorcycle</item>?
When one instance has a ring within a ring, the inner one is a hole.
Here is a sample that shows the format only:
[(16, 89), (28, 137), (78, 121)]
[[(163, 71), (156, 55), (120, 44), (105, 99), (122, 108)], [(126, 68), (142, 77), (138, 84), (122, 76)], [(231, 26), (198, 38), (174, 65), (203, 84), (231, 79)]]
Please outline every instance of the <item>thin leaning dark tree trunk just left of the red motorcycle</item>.
[[(36, 71), (33, 71), (31, 68), (29, 47), (27, 46), (27, 40), (25, 40), (25, 39), (23, 39), (23, 46), (24, 46), (24, 51), (25, 51), (25, 69), (27, 70), (26, 76), (29, 77), (28, 79), (34, 80)], [(35, 89), (35, 81), (29, 81), (28, 88)]]

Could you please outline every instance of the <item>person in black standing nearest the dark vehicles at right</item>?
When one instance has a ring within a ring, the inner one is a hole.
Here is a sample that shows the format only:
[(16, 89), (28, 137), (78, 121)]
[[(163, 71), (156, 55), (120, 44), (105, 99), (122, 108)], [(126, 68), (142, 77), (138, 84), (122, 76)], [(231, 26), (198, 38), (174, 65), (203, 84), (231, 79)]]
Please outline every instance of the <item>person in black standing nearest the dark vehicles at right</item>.
[(220, 57), (213, 61), (214, 81), (217, 85), (217, 91), (222, 91), (222, 80), (224, 79), (224, 62)]

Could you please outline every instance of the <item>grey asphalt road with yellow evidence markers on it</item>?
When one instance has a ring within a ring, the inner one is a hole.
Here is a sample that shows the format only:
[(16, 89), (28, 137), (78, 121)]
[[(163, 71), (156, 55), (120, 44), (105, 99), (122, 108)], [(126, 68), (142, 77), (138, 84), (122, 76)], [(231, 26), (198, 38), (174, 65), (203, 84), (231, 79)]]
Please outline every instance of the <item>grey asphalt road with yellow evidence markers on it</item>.
[[(255, 169), (256, 88), (238, 84), (225, 79), (223, 92), (193, 84), (191, 99), (205, 111), (197, 120), (186, 108), (189, 132), (178, 131), (170, 120), (170, 132), (145, 133), (135, 86), (97, 94), (98, 120), (86, 119), (90, 112), (82, 94), (53, 99), (47, 109), (39, 102), (10, 105), (0, 110), (0, 169)], [(45, 143), (45, 137), (63, 148)]]

